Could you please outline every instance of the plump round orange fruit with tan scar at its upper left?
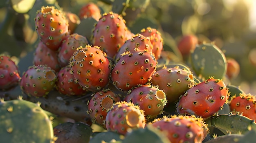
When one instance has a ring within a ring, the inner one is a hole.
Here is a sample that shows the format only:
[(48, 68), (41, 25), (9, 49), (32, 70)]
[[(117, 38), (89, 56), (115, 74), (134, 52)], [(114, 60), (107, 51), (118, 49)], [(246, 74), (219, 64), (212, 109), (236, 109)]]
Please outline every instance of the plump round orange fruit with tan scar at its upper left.
[(86, 90), (99, 91), (109, 82), (110, 62), (98, 46), (77, 48), (70, 60), (70, 68), (76, 82)]

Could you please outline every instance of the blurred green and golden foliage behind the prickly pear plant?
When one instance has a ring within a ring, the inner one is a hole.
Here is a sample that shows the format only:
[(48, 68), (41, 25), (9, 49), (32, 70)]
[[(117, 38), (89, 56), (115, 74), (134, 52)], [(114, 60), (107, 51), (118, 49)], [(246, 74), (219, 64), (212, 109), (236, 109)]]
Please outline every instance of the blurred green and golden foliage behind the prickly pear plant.
[[(54, 5), (78, 15), (88, 2), (96, 3), (104, 13), (114, 6), (120, 9), (121, 2), (127, 0), (120, 0), (120, 4), (114, 1), (118, 0), (1, 0), (0, 53), (12, 56), (17, 63), (33, 53), (38, 42), (34, 17), (42, 5)], [(200, 42), (214, 41), (227, 58), (240, 64), (240, 74), (231, 84), (256, 94), (255, 9), (256, 0), (133, 0), (133, 5), (121, 15), (133, 33), (147, 26), (158, 29), (164, 39), (164, 50), (172, 51), (179, 62), (182, 59), (177, 42), (182, 35), (194, 34)], [(91, 31), (87, 29), (90, 26), (81, 27)]]

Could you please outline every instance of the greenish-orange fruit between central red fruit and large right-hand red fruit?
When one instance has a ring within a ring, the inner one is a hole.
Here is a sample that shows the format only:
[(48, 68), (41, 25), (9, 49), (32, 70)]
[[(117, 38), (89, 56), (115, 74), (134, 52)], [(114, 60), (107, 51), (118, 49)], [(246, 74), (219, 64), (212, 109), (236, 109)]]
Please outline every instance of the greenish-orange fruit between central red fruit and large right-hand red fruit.
[(164, 67), (153, 73), (151, 83), (164, 90), (169, 103), (177, 101), (180, 95), (195, 84), (191, 71), (179, 68), (179, 66)]

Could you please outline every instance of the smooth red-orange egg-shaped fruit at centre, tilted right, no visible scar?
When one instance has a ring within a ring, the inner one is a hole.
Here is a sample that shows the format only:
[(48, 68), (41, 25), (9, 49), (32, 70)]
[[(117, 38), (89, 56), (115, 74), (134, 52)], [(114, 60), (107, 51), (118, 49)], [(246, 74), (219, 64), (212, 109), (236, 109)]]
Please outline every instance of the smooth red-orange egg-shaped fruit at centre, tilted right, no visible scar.
[(152, 53), (135, 49), (123, 53), (112, 69), (111, 77), (117, 89), (130, 90), (138, 84), (146, 84), (155, 72), (157, 61)]

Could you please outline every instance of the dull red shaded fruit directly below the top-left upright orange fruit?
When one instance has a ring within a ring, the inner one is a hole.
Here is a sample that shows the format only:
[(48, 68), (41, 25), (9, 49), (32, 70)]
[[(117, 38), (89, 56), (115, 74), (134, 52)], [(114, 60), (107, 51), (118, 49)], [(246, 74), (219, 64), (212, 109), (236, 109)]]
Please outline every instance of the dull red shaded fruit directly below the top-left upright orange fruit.
[(34, 53), (33, 64), (38, 65), (47, 65), (56, 72), (61, 69), (61, 66), (58, 62), (58, 52), (53, 51), (48, 48), (43, 42), (39, 42)]

